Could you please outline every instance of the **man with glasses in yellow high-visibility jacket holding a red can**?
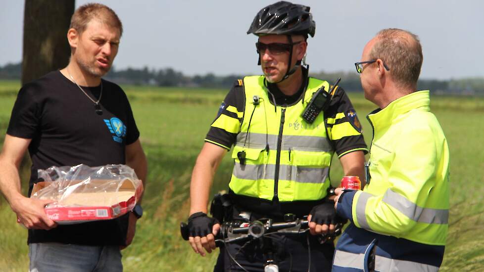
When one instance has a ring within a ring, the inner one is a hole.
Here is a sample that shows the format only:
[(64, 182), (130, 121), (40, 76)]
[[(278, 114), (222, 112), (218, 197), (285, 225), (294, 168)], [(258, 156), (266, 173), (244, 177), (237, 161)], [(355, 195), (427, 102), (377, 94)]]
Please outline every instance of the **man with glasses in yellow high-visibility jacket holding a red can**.
[(333, 271), (437, 271), (448, 229), (449, 150), (430, 112), (429, 91), (415, 91), (422, 66), (418, 37), (380, 31), (364, 48), (365, 97), (374, 137), (361, 191), (337, 188), (335, 207), (351, 224), (341, 235)]

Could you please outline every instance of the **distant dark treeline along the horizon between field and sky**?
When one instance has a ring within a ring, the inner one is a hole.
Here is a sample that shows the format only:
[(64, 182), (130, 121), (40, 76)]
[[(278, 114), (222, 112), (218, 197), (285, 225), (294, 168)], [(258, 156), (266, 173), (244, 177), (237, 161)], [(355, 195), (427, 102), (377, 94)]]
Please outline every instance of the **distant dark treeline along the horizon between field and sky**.
[[(0, 66), (0, 79), (20, 79), (22, 73), (21, 63)], [(341, 77), (340, 86), (346, 91), (361, 91), (360, 77), (354, 72), (311, 73), (311, 76), (335, 82)], [(105, 78), (118, 84), (155, 85), (164, 87), (205, 87), (230, 88), (237, 79), (243, 75), (217, 76), (213, 73), (205, 75), (187, 76), (173, 68), (141, 69), (127, 68), (117, 70), (115, 67), (109, 71)], [(438, 94), (465, 94), (484, 95), (483, 78), (465, 78), (451, 80), (421, 79), (419, 90), (431, 90)]]

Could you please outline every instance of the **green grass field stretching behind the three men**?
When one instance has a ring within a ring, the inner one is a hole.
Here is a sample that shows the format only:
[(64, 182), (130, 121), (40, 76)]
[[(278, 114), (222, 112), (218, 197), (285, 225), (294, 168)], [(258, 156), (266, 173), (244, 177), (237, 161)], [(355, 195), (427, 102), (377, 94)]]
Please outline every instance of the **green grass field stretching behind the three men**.
[[(0, 81), (0, 140), (3, 142), (18, 82)], [(148, 158), (144, 197), (145, 216), (139, 221), (133, 244), (123, 253), (125, 271), (211, 271), (216, 254), (195, 255), (179, 235), (190, 205), (189, 183), (195, 158), (217, 108), (228, 90), (124, 86)], [(375, 107), (362, 93), (350, 98), (372, 139), (364, 116)], [(441, 271), (484, 271), (484, 155), (480, 133), (484, 128), (484, 99), (436, 97), (431, 107), (447, 136), (451, 152), (450, 229)], [(232, 161), (226, 156), (215, 177), (213, 192), (227, 188)], [(335, 167), (336, 166), (336, 167)], [(27, 188), (29, 164), (22, 168)], [(1, 171), (1, 170), (0, 170)], [(341, 178), (336, 162), (331, 177)], [(27, 231), (0, 198), (0, 271), (27, 271)]]

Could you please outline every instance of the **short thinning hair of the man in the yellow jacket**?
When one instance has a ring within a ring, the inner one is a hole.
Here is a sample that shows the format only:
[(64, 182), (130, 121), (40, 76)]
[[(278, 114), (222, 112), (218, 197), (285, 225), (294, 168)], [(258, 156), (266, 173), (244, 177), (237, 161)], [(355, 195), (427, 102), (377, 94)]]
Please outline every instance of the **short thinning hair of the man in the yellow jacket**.
[(375, 38), (371, 59), (382, 59), (399, 86), (416, 88), (424, 59), (419, 37), (406, 30), (388, 28)]

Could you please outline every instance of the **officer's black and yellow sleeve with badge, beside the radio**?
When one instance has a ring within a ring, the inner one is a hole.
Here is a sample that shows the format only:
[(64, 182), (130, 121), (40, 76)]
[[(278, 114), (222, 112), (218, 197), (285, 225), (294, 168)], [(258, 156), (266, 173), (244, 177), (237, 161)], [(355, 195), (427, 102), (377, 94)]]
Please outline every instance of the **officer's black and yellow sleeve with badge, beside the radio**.
[(341, 88), (336, 90), (325, 116), (328, 134), (333, 141), (338, 157), (356, 150), (368, 153), (361, 123), (351, 101)]

